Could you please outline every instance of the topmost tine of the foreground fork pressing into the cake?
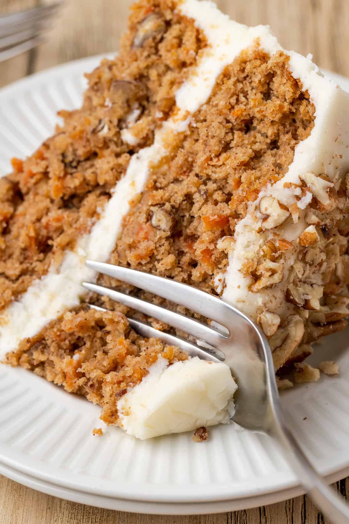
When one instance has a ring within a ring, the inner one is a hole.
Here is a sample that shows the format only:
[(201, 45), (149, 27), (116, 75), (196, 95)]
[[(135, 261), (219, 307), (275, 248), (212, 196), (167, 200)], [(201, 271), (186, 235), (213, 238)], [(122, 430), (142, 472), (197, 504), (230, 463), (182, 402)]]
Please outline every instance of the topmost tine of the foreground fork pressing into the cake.
[(176, 282), (170, 278), (158, 277), (150, 273), (144, 273), (143, 271), (113, 266), (102, 262), (94, 262), (92, 260), (87, 260), (86, 266), (109, 277), (127, 282), (131, 284), (131, 286), (150, 291), (151, 293), (159, 295), (159, 297), (183, 305), (185, 308), (215, 320), (219, 324), (224, 325), (227, 310), (229, 310), (230, 315), (232, 310), (241, 315), (238, 310), (228, 306), (228, 304), (220, 298), (206, 291), (201, 291), (200, 289), (183, 284), (182, 282)]

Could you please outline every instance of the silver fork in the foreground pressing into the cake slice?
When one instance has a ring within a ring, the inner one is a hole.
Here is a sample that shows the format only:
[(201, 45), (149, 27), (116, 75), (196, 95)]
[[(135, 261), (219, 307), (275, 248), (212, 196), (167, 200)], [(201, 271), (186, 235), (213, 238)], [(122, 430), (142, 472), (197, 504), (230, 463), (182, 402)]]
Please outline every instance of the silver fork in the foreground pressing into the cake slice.
[(89, 291), (107, 296), (129, 308), (166, 322), (212, 346), (212, 350), (206, 350), (188, 340), (156, 330), (147, 323), (129, 319), (134, 331), (144, 337), (155, 336), (167, 344), (182, 348), (191, 356), (228, 364), (238, 384), (232, 421), (245, 429), (261, 432), (276, 439), (303, 488), (323, 513), (335, 524), (348, 524), (349, 506), (323, 482), (292, 434), (280, 405), (271, 348), (263, 331), (255, 322), (220, 298), (192, 286), (90, 260), (86, 265), (215, 321), (216, 324), (212, 327), (129, 294), (94, 283), (83, 283)]

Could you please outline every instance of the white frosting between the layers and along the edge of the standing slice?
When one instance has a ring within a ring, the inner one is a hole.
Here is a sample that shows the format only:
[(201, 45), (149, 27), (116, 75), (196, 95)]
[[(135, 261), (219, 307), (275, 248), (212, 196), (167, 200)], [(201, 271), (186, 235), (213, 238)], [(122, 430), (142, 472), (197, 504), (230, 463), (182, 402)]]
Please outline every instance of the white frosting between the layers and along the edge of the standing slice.
[[(116, 185), (114, 194), (91, 234), (78, 241), (74, 252), (66, 253), (59, 268), (51, 267), (46, 276), (35, 281), (26, 293), (2, 313), (1, 356), (14, 350), (21, 339), (35, 335), (64, 310), (79, 303), (83, 294), (81, 282), (95, 279), (94, 273), (85, 267), (85, 260), (108, 259), (120, 234), (122, 217), (129, 210), (129, 201), (142, 191), (147, 180), (149, 163), (159, 161), (166, 152), (165, 136), (168, 132), (179, 133), (186, 130), (190, 114), (208, 100), (224, 67), (256, 40), (269, 54), (283, 50), (267, 26), (249, 28), (238, 24), (222, 14), (213, 2), (184, 0), (178, 6), (178, 10), (195, 20), (195, 24), (205, 32), (209, 42), (193, 74), (177, 90), (176, 103), (179, 113), (156, 131), (152, 146), (142, 149), (132, 157), (125, 176)], [(346, 131), (349, 128), (349, 117), (341, 110), (342, 103), (347, 104), (349, 95), (330, 80), (324, 79), (309, 57), (304, 58), (293, 51), (285, 53), (290, 57), (291, 73), (295, 78), (299, 78), (303, 88), (309, 91), (311, 101), (316, 106), (316, 119), (310, 136), (296, 147), (294, 160), (286, 176), (261, 192), (257, 201), (250, 204), (247, 216), (237, 225), (235, 231), (236, 244), (230, 255), (229, 267), (223, 276), (225, 287), (222, 297), (252, 316), (255, 315), (256, 304), (271, 306), (274, 310), (283, 308), (283, 314), (293, 309), (292, 305), (284, 301), (282, 284), (274, 287), (272, 293), (270, 290), (251, 293), (248, 290), (251, 281), (240, 272), (246, 253), (253, 252), (265, 242), (267, 233), (257, 233), (262, 220), (258, 211), (258, 203), (262, 196), (275, 195), (280, 202), (289, 205), (296, 202), (296, 190), (285, 191), (284, 182), (299, 182), (299, 174), (307, 171), (326, 173), (333, 179), (337, 171), (342, 175), (349, 166), (349, 137)], [(281, 226), (284, 227), (283, 236), (286, 239), (297, 238), (299, 232), (305, 229), (304, 214), (305, 212), (300, 210), (299, 223), (296, 226)], [(290, 256), (286, 260), (285, 269), (287, 270), (293, 262), (294, 259)], [(218, 286), (221, 285), (222, 282), (219, 282)]]

